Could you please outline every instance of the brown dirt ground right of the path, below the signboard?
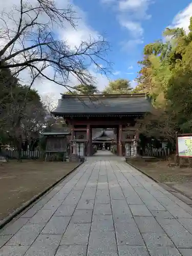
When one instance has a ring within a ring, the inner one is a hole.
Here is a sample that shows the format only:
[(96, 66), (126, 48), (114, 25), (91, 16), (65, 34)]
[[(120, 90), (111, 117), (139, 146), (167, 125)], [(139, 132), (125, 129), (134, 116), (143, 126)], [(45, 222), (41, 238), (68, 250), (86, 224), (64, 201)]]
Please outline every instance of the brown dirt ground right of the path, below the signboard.
[(164, 183), (192, 199), (192, 168), (175, 166), (169, 161), (145, 162), (129, 160), (130, 163), (150, 175), (160, 183)]

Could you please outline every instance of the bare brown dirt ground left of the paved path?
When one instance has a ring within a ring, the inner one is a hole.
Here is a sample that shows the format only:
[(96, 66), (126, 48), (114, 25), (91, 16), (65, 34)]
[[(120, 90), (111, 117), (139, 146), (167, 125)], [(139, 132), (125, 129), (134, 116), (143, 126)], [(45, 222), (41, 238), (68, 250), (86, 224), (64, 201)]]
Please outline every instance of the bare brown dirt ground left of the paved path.
[(36, 160), (10, 160), (0, 165), (0, 221), (77, 165)]

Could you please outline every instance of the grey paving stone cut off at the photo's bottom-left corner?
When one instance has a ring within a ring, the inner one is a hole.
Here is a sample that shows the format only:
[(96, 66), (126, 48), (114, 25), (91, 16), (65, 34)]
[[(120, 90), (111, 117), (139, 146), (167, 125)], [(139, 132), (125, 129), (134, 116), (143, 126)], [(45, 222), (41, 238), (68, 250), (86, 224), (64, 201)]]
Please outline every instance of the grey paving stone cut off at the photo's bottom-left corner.
[(29, 246), (3, 246), (0, 249), (1, 256), (24, 256)]

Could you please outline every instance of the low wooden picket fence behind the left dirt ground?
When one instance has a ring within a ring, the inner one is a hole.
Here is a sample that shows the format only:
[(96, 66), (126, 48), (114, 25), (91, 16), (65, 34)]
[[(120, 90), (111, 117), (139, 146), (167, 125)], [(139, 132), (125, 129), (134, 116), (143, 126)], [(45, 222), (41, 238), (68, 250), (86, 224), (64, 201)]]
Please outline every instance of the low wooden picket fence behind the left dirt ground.
[[(39, 159), (45, 158), (45, 151), (22, 151), (21, 158), (23, 159)], [(8, 158), (17, 159), (18, 158), (18, 151), (13, 150), (3, 150), (2, 155)]]

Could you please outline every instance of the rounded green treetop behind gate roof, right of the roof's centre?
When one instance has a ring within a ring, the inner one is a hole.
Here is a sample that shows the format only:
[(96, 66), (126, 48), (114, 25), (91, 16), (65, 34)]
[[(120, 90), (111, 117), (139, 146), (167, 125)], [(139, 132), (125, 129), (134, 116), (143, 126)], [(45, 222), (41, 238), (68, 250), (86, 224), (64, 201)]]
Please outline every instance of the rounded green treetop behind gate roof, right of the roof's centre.
[(129, 80), (117, 79), (111, 81), (107, 87), (103, 90), (102, 94), (129, 94), (132, 88)]

